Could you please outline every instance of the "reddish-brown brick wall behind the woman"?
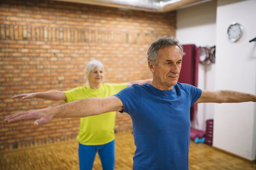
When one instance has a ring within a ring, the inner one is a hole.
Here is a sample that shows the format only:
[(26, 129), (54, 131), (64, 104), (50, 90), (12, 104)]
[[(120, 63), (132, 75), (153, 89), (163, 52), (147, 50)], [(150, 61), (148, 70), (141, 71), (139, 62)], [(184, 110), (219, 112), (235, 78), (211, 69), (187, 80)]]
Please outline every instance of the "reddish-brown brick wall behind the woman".
[[(100, 60), (106, 82), (152, 77), (147, 50), (157, 37), (175, 35), (176, 13), (149, 13), (43, 0), (2, 0), (0, 4), (0, 150), (76, 139), (79, 119), (5, 124), (6, 115), (62, 104), (11, 99), (20, 93), (67, 90), (85, 84), (85, 66)], [(117, 114), (115, 130), (131, 130)]]

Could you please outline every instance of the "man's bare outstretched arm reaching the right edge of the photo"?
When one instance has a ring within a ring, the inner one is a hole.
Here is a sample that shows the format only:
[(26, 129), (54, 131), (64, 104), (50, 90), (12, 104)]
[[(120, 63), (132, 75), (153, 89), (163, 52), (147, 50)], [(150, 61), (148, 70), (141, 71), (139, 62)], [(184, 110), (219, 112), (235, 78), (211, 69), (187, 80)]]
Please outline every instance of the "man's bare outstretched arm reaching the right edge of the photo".
[(240, 103), (256, 102), (256, 95), (237, 91), (202, 91), (196, 103)]

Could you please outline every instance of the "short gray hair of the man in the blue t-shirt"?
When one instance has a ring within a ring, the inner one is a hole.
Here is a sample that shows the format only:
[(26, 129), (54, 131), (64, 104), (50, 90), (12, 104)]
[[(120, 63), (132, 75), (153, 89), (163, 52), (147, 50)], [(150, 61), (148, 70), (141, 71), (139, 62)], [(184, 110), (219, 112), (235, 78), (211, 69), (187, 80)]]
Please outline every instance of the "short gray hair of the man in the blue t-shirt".
[(180, 48), (183, 56), (183, 47), (180, 42), (172, 35), (166, 35), (164, 37), (157, 38), (148, 49), (148, 61), (151, 61), (154, 65), (158, 63), (158, 51), (167, 46), (177, 46)]

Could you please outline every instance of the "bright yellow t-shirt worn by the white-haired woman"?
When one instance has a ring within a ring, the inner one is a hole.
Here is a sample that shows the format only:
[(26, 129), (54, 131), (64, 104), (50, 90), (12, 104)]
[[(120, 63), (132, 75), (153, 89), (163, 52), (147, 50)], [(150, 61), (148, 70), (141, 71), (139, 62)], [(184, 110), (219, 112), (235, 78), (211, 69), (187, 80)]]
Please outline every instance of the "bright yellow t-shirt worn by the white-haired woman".
[[(100, 88), (78, 86), (71, 90), (64, 91), (67, 97), (65, 102), (72, 102), (89, 97), (104, 98), (115, 95), (126, 87), (127, 83), (102, 83)], [(114, 140), (115, 117), (116, 112), (109, 112), (80, 118), (79, 135), (77, 136), (79, 143), (83, 145), (103, 145)]]

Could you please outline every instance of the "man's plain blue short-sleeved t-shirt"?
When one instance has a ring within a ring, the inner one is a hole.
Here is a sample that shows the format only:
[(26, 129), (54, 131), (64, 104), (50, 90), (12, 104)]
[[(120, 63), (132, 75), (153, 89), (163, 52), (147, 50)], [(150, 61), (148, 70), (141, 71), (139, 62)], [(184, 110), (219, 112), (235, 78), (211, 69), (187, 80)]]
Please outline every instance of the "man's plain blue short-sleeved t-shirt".
[(115, 96), (132, 118), (133, 170), (188, 170), (190, 107), (202, 91), (177, 83), (170, 91), (134, 84)]

